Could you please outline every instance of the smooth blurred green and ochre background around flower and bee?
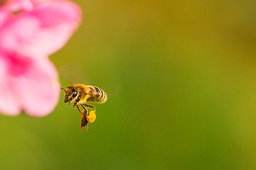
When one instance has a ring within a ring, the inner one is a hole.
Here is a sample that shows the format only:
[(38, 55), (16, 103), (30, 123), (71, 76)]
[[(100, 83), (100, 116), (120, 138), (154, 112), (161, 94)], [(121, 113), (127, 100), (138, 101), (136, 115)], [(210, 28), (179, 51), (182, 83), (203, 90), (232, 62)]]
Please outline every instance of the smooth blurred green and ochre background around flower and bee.
[(81, 133), (63, 102), (0, 115), (0, 169), (256, 169), (256, 1), (76, 1), (50, 59), (63, 87), (103, 88)]

